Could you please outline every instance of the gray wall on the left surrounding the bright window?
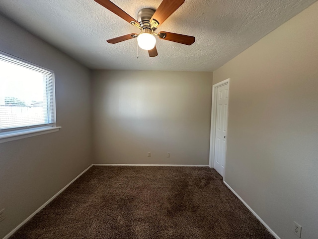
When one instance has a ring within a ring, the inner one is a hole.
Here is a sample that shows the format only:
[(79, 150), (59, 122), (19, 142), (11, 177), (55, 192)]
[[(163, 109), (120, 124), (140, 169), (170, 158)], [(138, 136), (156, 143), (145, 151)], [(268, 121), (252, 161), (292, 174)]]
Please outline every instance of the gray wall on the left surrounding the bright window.
[(59, 132), (0, 144), (0, 238), (91, 164), (90, 71), (0, 16), (0, 51), (55, 72)]

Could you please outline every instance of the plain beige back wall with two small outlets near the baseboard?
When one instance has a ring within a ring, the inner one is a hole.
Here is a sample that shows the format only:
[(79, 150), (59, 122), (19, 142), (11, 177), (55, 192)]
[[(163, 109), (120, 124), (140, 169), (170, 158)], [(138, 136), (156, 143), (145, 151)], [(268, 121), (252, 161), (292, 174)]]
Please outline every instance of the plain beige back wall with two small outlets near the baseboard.
[(209, 163), (211, 72), (94, 71), (92, 91), (94, 163)]

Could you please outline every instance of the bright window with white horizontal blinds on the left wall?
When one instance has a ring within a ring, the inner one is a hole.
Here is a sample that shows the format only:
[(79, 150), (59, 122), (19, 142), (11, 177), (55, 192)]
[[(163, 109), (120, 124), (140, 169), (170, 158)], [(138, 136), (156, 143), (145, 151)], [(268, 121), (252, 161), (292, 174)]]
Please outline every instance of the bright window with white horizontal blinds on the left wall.
[(55, 123), (54, 73), (0, 54), (0, 140), (35, 136)]

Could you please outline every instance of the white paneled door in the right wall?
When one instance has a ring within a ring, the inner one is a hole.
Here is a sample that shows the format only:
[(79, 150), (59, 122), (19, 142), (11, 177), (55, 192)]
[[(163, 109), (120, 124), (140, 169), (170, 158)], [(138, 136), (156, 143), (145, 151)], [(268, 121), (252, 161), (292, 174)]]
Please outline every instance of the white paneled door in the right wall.
[(214, 168), (224, 175), (228, 127), (229, 84), (217, 88)]

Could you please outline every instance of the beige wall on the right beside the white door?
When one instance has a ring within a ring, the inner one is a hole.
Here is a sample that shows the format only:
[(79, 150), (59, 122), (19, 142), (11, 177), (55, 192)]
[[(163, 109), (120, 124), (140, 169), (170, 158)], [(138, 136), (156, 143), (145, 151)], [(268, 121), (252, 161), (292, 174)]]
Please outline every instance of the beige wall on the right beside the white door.
[(281, 238), (318, 238), (318, 2), (213, 73), (231, 78), (225, 181)]

